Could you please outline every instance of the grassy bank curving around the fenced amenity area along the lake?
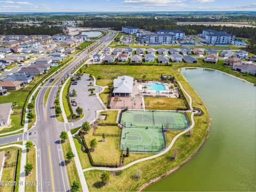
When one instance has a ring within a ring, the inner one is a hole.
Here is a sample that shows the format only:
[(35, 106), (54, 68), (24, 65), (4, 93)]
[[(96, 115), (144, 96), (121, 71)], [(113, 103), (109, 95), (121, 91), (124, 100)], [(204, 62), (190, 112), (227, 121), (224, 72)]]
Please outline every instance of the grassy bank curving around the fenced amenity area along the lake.
[[(201, 64), (202, 65), (202, 64)], [(139, 187), (154, 179), (156, 177), (160, 177), (165, 174), (167, 171), (170, 171), (174, 167), (180, 166), (182, 163), (186, 162), (187, 159), (195, 153), (196, 150), (202, 145), (204, 139), (207, 137), (207, 129), (210, 125), (210, 117), (207, 109), (202, 103), (201, 99), (195, 93), (195, 91), (190, 87), (190, 85), (185, 81), (182, 75), (178, 74), (178, 69), (182, 66), (182, 64), (175, 64), (172, 67), (161, 67), (161, 66), (90, 66), (90, 69), (87, 69), (86, 73), (91, 73), (92, 75), (100, 74), (103, 78), (109, 79), (109, 76), (120, 76), (120, 75), (131, 75), (135, 78), (141, 78), (143, 74), (154, 74), (155, 78), (159, 78), (161, 74), (172, 74), (177, 81), (179, 81), (184, 89), (190, 94), (191, 98), (193, 98), (193, 107), (200, 108), (203, 112), (203, 116), (195, 117), (195, 126), (193, 129), (193, 133), (191, 137), (187, 137), (187, 134), (181, 135), (175, 143), (174, 146), (167, 151), (164, 155), (150, 159), (145, 162), (140, 162), (135, 164), (125, 170), (122, 171), (121, 174), (117, 176), (110, 176), (110, 181), (108, 186), (104, 186), (101, 188), (97, 188), (95, 185), (100, 180), (100, 175), (103, 171), (87, 171), (84, 172), (86, 182), (89, 186), (89, 190), (91, 191), (134, 191), (138, 190)], [(193, 66), (193, 65), (186, 65)], [(100, 68), (100, 69), (98, 69)], [(138, 73), (137, 71), (143, 71), (143, 73)], [(185, 95), (187, 98), (187, 96)], [(170, 143), (174, 135), (177, 132), (170, 131), (166, 135), (167, 143)], [(173, 135), (172, 135), (173, 134)], [(173, 150), (177, 149), (179, 151), (177, 158), (173, 159)], [(125, 161), (129, 161), (125, 159)], [(161, 162), (161, 163), (159, 163)], [(138, 170), (141, 170), (141, 179), (135, 179), (134, 175)]]

